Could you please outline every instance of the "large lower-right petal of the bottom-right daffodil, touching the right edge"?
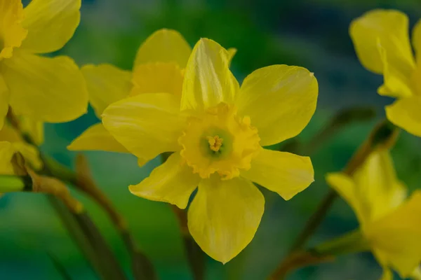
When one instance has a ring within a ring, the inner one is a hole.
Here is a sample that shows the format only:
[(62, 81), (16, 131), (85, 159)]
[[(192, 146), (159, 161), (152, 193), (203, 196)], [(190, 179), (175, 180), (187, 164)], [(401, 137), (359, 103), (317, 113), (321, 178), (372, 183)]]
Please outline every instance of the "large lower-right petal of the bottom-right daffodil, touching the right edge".
[(421, 192), (396, 211), (366, 226), (366, 237), (390, 267), (405, 278), (421, 262)]

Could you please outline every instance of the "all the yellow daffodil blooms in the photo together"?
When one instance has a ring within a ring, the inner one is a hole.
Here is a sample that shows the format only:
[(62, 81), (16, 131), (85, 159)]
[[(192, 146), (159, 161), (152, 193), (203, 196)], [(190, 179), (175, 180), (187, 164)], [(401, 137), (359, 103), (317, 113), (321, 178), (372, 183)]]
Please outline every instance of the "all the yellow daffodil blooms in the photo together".
[[(142, 43), (133, 71), (110, 64), (79, 69), (69, 57), (40, 54), (62, 48), (79, 25), (81, 0), (0, 0), (0, 173), (13, 174), (21, 153), (41, 168), (36, 149), (42, 125), (86, 112), (101, 123), (69, 145), (72, 151), (132, 153), (139, 165), (171, 153), (147, 179), (129, 190), (148, 200), (188, 208), (189, 232), (220, 262), (228, 262), (258, 230), (265, 187), (284, 200), (314, 181), (309, 158), (265, 148), (300, 134), (316, 109), (318, 83), (299, 66), (272, 65), (250, 73), (241, 85), (229, 69), (235, 49), (208, 38), (191, 48), (177, 31), (161, 29)], [(421, 136), (421, 22), (413, 31), (395, 10), (374, 10), (352, 22), (350, 34), (363, 66), (382, 73), (379, 94), (396, 97), (387, 118)], [(406, 188), (387, 151), (375, 151), (354, 174), (327, 181), (352, 206), (364, 238), (385, 268), (401, 276), (421, 261), (421, 194)], [(194, 191), (197, 190), (196, 193)]]

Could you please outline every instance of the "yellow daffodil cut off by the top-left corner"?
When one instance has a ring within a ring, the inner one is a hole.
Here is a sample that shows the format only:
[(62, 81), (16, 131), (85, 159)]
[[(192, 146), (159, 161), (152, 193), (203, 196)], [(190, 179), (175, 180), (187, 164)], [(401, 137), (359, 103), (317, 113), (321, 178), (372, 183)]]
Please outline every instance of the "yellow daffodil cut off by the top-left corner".
[(88, 94), (69, 57), (60, 50), (79, 25), (81, 0), (0, 0), (0, 129), (11, 106), (34, 122), (62, 123), (86, 112)]

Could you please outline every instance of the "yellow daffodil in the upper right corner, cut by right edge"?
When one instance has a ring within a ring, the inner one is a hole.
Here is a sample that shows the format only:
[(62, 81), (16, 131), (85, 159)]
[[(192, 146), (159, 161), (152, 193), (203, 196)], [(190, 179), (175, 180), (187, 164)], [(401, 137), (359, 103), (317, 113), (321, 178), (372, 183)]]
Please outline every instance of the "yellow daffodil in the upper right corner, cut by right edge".
[(413, 29), (413, 50), (408, 17), (398, 10), (372, 10), (349, 28), (356, 54), (366, 69), (382, 74), (377, 92), (396, 97), (386, 106), (387, 118), (421, 137), (421, 20)]

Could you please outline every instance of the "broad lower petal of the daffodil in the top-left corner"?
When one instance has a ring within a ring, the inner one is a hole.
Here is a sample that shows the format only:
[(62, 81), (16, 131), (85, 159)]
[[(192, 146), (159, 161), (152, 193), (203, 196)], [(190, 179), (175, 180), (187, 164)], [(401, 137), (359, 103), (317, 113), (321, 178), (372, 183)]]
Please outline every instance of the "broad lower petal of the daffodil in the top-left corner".
[(69, 57), (15, 53), (1, 64), (1, 72), (18, 115), (62, 123), (86, 113), (88, 94), (83, 76)]

